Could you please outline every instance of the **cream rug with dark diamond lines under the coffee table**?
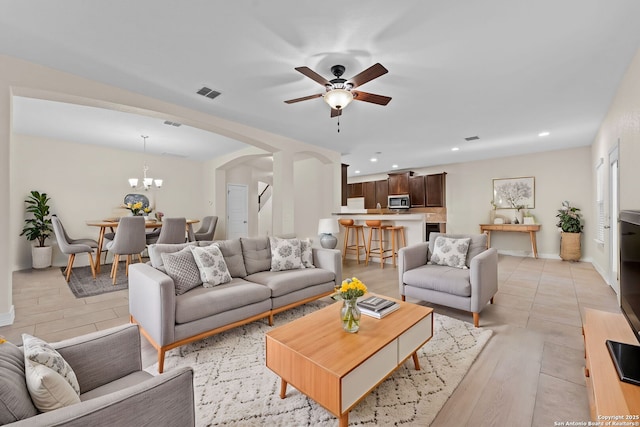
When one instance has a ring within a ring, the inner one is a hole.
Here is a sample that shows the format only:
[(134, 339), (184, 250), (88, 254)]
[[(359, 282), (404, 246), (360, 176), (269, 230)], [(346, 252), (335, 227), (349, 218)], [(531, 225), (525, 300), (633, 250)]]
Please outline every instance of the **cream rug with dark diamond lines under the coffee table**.
[[(326, 303), (305, 304), (275, 316), (283, 325)], [(337, 319), (336, 319), (337, 321)], [(165, 372), (194, 370), (198, 426), (336, 426), (337, 419), (293, 387), (280, 399), (280, 379), (265, 366), (265, 321), (223, 332), (167, 352)], [(350, 425), (428, 426), (491, 337), (492, 331), (435, 314), (433, 338), (349, 414)], [(147, 369), (157, 374), (157, 364)]]

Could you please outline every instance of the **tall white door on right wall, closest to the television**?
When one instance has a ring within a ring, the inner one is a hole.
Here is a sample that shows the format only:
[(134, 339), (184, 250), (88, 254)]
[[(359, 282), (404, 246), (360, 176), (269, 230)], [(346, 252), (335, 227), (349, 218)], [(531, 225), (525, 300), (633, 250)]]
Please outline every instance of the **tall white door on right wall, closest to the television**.
[(620, 295), (620, 281), (618, 278), (618, 265), (620, 262), (620, 250), (618, 248), (619, 223), (618, 214), (620, 203), (619, 192), (619, 161), (618, 145), (609, 153), (609, 283)]

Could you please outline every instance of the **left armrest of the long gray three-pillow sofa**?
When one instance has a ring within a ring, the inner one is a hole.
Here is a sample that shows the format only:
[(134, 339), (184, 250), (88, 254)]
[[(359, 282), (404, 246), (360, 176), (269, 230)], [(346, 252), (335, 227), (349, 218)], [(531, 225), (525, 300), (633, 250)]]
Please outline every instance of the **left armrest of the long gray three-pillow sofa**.
[(129, 314), (159, 346), (175, 341), (173, 279), (147, 264), (129, 266)]

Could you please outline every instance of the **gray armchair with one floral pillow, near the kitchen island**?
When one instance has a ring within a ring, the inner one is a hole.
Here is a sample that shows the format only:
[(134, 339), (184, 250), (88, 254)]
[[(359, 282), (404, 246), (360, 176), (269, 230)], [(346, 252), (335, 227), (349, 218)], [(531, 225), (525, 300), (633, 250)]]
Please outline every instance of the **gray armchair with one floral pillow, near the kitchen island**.
[[(438, 236), (470, 238), (466, 269), (428, 264)], [(487, 249), (486, 234), (431, 233), (429, 242), (398, 251), (400, 295), (473, 313), (478, 327), (480, 312), (498, 292), (498, 253)]]

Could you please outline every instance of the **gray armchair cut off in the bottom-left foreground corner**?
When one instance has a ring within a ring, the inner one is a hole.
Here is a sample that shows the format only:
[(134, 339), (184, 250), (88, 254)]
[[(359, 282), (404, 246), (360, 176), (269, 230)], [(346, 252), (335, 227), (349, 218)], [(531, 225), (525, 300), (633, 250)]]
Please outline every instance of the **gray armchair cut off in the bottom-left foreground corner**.
[(140, 332), (124, 325), (51, 343), (73, 369), (80, 403), (39, 413), (21, 347), (0, 344), (0, 424), (12, 426), (193, 426), (193, 371), (142, 370)]

